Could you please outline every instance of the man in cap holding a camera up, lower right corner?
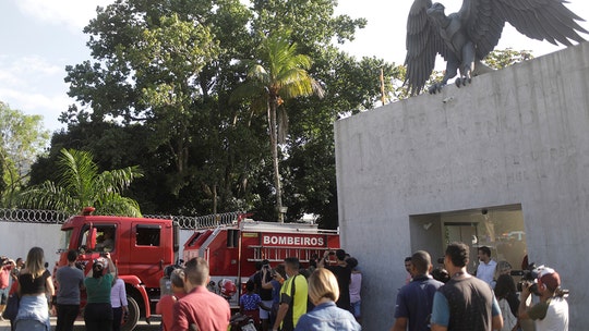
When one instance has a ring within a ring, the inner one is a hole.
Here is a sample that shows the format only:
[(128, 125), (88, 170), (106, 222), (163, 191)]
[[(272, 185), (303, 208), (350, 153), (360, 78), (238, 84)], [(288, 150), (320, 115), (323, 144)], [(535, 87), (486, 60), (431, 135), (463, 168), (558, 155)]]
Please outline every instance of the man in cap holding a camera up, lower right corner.
[(520, 319), (531, 319), (536, 331), (568, 331), (568, 303), (566, 294), (561, 290), (561, 277), (554, 269), (539, 267), (537, 295), (540, 303), (528, 307), (526, 301), (530, 296), (532, 283), (522, 286), (518, 315)]

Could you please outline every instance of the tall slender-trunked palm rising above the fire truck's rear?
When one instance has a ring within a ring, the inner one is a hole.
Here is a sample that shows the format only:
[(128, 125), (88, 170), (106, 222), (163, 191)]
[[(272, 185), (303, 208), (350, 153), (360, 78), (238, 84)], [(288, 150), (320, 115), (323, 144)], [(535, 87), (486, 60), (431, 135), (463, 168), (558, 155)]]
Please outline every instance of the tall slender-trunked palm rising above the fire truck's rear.
[[(266, 108), (274, 166), (276, 210), (280, 222), (284, 222), (284, 213), (278, 143), (285, 143), (288, 124), (284, 100), (312, 95), (323, 97), (320, 84), (306, 72), (313, 61), (308, 56), (299, 54), (297, 47), (296, 42), (290, 41), (289, 32), (281, 30), (268, 36), (261, 44), (259, 62), (250, 65), (248, 77), (251, 81), (237, 91), (237, 94), (243, 94), (248, 90), (250, 96), (257, 98), (252, 105), (264, 105)], [(261, 100), (263, 100), (262, 103), (255, 102)]]

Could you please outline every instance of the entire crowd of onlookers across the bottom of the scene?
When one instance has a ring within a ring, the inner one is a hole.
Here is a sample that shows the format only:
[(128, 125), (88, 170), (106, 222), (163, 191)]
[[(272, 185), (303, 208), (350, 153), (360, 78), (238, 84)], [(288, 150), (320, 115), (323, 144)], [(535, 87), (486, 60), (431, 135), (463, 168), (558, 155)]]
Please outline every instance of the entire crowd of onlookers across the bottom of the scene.
[[(444, 268), (436, 269), (424, 250), (405, 259), (408, 279), (397, 294), (392, 331), (568, 330), (566, 291), (554, 269), (531, 267), (517, 289), (512, 266), (495, 262), (488, 247), (479, 247), (479, 267), (470, 274), (469, 250), (464, 243), (449, 244)], [(31, 248), (26, 260), (1, 258), (0, 311), (11, 294), (20, 298), (12, 330), (51, 330), (51, 312), (57, 316), (57, 331), (73, 330), (82, 289), (87, 295), (86, 330), (120, 330), (128, 312), (127, 293), (109, 253), (93, 261), (87, 275), (76, 260), (77, 253), (68, 252), (68, 265), (55, 274), (56, 291), (41, 248)], [(297, 257), (274, 268), (263, 260), (239, 298), (240, 314), (231, 317), (227, 297), (208, 289), (208, 262), (194, 258), (166, 270), (167, 290), (156, 312), (161, 315), (164, 331), (241, 330), (242, 326), (231, 323), (236, 317), (244, 317), (241, 320), (260, 331), (361, 330), (358, 265), (344, 249), (325, 250), (306, 268)]]

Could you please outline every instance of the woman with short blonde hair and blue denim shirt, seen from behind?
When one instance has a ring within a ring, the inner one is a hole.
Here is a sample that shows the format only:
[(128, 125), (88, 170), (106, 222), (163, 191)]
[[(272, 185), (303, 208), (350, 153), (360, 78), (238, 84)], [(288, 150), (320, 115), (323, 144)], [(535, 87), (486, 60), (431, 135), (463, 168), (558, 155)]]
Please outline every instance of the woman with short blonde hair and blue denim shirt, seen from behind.
[(301, 316), (294, 331), (362, 330), (350, 311), (336, 306), (335, 302), (338, 297), (339, 287), (334, 273), (325, 268), (313, 271), (309, 278), (309, 298), (315, 308)]

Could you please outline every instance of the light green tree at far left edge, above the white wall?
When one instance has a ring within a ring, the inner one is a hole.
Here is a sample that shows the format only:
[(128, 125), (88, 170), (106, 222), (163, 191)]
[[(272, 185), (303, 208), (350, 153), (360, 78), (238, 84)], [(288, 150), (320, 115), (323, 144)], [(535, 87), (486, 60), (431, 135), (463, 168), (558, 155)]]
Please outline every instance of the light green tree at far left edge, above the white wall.
[(0, 204), (12, 199), (27, 184), (31, 166), (44, 152), (49, 132), (40, 115), (27, 115), (0, 101)]

